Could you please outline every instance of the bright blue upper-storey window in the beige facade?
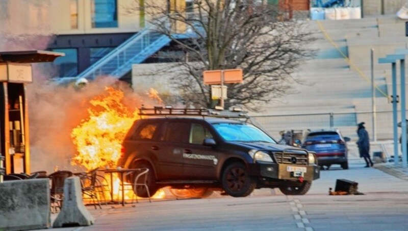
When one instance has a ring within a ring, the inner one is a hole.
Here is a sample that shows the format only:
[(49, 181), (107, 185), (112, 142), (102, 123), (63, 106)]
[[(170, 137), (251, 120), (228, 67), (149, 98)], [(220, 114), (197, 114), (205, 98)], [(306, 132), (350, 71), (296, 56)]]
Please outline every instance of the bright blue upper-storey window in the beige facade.
[(92, 0), (92, 28), (118, 27), (116, 0)]

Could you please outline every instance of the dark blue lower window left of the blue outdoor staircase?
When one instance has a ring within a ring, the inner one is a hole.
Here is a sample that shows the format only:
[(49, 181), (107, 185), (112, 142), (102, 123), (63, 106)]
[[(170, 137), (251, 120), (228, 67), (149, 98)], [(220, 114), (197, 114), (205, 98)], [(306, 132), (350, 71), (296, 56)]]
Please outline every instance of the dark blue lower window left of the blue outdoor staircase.
[(73, 77), (78, 75), (78, 51), (77, 49), (53, 49), (54, 52), (65, 53), (55, 59), (54, 64), (58, 68), (59, 77)]

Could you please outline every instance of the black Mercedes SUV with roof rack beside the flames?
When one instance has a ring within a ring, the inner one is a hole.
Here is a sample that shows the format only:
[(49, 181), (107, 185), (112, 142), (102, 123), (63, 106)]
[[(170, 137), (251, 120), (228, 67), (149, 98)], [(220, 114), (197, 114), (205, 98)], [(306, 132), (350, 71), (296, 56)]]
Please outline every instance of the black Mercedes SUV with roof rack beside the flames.
[[(234, 197), (259, 188), (279, 188), (286, 195), (308, 192), (320, 176), (313, 152), (277, 144), (242, 112), (225, 112), (140, 109), (141, 116), (161, 117), (135, 121), (118, 166), (148, 168), (151, 195), (163, 187), (195, 190), (196, 197), (214, 190)], [(145, 188), (135, 193), (148, 196)]]

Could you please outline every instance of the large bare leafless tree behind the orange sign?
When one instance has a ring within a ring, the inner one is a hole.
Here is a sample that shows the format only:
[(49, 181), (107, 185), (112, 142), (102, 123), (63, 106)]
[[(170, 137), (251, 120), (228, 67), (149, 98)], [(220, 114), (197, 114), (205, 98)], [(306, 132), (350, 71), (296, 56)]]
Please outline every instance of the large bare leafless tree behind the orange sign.
[[(212, 106), (211, 87), (203, 84), (205, 70), (242, 68), (244, 82), (226, 84), (225, 106), (242, 105), (257, 111), (288, 92), (296, 67), (315, 51), (314, 40), (301, 21), (262, 0), (135, 0), (129, 12), (143, 11), (158, 32), (171, 38), (178, 57), (172, 82), (187, 105)], [(187, 39), (183, 39), (187, 38)], [(174, 57), (175, 58), (175, 57)], [(183, 66), (183, 68), (181, 68)]]

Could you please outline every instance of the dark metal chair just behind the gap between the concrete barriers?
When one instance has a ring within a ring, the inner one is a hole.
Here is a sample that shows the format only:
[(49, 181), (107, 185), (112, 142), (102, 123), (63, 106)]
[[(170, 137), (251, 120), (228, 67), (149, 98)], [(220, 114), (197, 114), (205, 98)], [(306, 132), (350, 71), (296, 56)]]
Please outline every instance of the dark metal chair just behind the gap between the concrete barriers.
[(64, 200), (64, 181), (70, 176), (72, 176), (70, 171), (57, 171), (48, 176), (51, 180), (50, 209), (52, 213), (57, 212), (57, 208), (61, 211)]

